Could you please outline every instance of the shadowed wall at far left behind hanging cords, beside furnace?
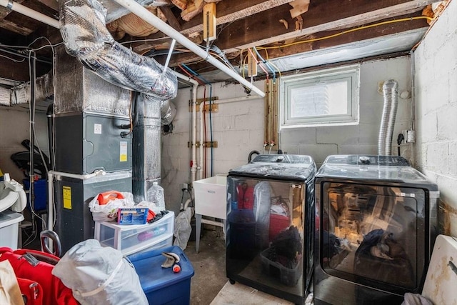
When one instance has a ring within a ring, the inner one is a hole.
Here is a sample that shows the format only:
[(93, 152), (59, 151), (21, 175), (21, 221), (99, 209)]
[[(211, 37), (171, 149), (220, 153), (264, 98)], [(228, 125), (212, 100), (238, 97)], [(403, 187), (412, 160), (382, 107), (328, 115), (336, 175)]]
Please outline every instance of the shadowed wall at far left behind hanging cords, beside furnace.
[[(0, 169), (3, 173), (9, 173), (12, 179), (22, 183), (24, 174), (11, 161), (11, 155), (18, 151), (26, 151), (21, 141), (29, 139), (30, 114), (26, 109), (28, 104), (15, 107), (0, 108)], [(41, 150), (49, 156), (49, 145), (47, 137), (46, 112), (37, 111), (35, 115), (35, 131)]]

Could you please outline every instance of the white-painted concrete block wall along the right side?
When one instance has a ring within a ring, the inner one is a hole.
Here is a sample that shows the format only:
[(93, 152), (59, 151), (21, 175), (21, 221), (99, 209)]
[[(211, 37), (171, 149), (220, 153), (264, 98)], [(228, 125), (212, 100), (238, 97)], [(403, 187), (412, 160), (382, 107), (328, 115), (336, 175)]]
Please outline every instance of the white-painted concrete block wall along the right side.
[(443, 234), (457, 236), (457, 1), (413, 53), (416, 166), (438, 184)]

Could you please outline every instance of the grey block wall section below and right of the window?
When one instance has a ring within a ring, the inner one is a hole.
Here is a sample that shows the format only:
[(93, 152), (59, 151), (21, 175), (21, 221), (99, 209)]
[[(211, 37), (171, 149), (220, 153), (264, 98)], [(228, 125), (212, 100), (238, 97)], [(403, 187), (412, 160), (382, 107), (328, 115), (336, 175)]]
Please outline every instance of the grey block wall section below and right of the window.
[[(283, 129), (281, 148), (288, 154), (309, 154), (320, 166), (330, 154), (377, 154), (378, 133), (383, 112), (383, 81), (398, 81), (398, 93), (411, 92), (410, 57), (366, 61), (360, 69), (359, 124)], [(381, 86), (381, 89), (378, 89)], [(398, 98), (398, 111), (393, 131), (392, 154), (396, 155), (396, 139), (411, 125), (411, 99)], [(411, 144), (401, 145), (401, 155), (411, 159)]]

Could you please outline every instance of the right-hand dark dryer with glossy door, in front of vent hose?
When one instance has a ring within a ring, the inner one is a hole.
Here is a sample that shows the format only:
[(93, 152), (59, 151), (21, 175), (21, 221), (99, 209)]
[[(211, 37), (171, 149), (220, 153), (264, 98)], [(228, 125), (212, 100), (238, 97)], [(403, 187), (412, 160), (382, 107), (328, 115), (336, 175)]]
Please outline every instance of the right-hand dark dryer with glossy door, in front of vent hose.
[(314, 304), (401, 304), (421, 293), (438, 187), (401, 156), (328, 156), (316, 174)]

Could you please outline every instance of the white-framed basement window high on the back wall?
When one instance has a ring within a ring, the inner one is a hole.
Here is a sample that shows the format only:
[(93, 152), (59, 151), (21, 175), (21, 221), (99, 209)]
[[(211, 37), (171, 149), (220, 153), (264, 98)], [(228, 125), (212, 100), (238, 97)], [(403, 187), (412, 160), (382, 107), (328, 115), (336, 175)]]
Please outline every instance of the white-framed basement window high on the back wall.
[(281, 129), (358, 124), (358, 84), (358, 65), (281, 77)]

